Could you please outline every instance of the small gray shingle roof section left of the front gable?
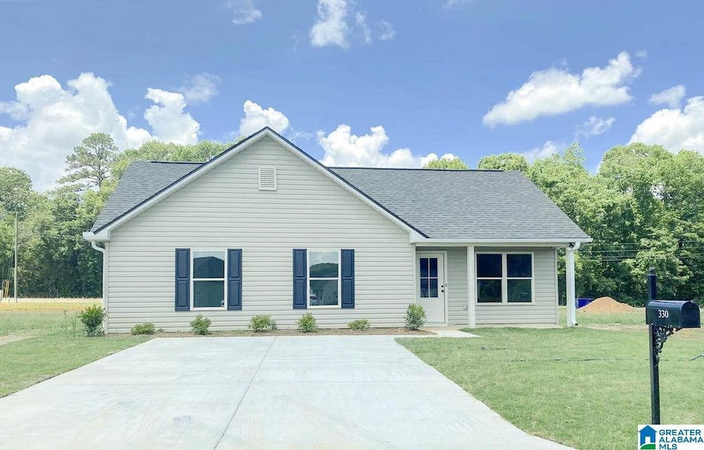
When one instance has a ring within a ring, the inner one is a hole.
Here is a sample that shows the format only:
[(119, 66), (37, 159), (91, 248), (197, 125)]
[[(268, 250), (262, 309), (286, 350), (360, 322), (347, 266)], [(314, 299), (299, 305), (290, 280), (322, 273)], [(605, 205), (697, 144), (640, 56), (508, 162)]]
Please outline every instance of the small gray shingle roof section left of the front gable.
[(134, 161), (122, 174), (115, 192), (106, 201), (91, 231), (108, 225), (142, 201), (168, 187), (201, 163), (162, 163)]

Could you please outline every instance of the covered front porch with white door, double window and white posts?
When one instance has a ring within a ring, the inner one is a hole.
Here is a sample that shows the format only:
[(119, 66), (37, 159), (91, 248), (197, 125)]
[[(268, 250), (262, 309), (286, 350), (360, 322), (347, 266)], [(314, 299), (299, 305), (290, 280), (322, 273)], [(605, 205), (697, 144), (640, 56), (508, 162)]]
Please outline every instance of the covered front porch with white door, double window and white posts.
[(557, 324), (558, 249), (566, 249), (567, 325), (576, 325), (579, 242), (415, 242), (415, 301), (428, 326)]

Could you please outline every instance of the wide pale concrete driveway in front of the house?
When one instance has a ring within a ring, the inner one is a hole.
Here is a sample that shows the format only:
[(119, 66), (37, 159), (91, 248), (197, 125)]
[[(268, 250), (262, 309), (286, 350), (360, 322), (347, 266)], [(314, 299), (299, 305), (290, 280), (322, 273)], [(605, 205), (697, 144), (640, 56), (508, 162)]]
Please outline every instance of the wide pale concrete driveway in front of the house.
[(0, 399), (15, 449), (566, 449), (391, 337), (165, 338)]

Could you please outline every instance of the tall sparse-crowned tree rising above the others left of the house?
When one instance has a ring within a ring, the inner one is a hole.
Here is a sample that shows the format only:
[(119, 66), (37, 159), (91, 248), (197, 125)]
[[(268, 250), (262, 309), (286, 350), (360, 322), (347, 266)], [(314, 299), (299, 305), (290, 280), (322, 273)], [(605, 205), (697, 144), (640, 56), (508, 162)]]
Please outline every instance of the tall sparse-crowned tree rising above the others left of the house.
[(93, 133), (73, 148), (66, 156), (66, 175), (58, 182), (62, 185), (77, 183), (80, 189), (100, 188), (110, 176), (111, 164), (118, 147), (113, 138), (105, 133)]

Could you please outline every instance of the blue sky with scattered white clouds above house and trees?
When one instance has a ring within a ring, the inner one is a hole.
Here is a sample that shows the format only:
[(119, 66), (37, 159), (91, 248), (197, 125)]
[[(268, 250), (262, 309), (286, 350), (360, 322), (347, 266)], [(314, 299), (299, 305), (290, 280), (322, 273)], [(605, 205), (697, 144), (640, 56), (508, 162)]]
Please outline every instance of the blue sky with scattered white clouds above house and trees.
[(0, 165), (42, 189), (89, 132), (124, 147), (258, 125), (336, 165), (476, 165), (575, 140), (591, 169), (631, 139), (704, 151), (703, 14), (696, 1), (0, 0)]

